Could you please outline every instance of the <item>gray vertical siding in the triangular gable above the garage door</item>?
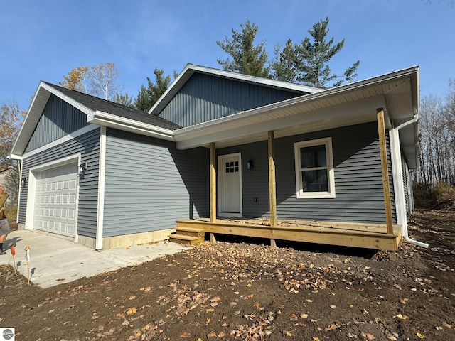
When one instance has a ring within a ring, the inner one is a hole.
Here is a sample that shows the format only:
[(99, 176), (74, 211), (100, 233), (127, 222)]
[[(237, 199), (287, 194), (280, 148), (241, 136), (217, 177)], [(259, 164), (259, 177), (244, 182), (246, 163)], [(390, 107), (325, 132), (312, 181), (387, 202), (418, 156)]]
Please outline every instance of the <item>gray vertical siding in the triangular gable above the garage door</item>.
[(87, 125), (87, 116), (51, 94), (36, 125), (25, 153), (45, 146)]

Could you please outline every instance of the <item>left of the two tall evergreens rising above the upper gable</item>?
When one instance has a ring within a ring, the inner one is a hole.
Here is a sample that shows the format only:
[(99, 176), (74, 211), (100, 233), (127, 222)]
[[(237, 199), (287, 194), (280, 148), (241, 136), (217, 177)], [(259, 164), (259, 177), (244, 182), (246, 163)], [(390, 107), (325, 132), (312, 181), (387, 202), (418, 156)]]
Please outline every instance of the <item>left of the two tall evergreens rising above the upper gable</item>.
[(269, 77), (269, 69), (266, 67), (268, 60), (265, 42), (254, 45), (258, 27), (255, 23), (241, 23), (242, 32), (232, 28), (232, 38), (225, 37), (224, 41), (217, 41), (220, 48), (231, 56), (225, 60), (218, 59), (217, 62), (224, 70), (253, 75), (258, 77)]

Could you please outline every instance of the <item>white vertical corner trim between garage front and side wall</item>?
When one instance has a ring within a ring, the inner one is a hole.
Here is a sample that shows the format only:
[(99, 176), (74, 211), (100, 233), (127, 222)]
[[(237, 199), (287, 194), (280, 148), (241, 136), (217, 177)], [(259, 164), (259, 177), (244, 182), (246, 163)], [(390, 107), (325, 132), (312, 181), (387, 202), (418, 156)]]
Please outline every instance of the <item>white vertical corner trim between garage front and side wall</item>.
[(97, 232), (95, 249), (102, 249), (102, 234), (105, 220), (105, 176), (106, 176), (106, 127), (100, 131), (100, 165), (98, 167), (98, 207), (97, 207)]

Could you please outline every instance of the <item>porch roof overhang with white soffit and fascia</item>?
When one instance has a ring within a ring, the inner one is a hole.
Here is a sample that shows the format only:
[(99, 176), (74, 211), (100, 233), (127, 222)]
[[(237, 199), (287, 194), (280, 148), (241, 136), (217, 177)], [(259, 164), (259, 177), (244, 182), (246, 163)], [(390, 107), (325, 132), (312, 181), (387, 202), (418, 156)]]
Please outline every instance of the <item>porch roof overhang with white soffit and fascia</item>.
[[(353, 82), (283, 102), (240, 112), (174, 131), (177, 148), (217, 148), (276, 137), (375, 121), (376, 109), (387, 114), (387, 128), (409, 121), (419, 111), (419, 67)], [(417, 166), (417, 123), (400, 131), (403, 153)]]

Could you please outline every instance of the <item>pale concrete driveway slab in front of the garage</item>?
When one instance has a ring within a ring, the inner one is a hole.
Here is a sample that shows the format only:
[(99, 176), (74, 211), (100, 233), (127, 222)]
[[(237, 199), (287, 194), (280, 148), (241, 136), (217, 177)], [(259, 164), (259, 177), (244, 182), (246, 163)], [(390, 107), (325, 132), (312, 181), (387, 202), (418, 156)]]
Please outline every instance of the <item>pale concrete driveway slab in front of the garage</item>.
[[(41, 288), (69, 283), (80, 278), (113, 271), (151, 261), (167, 254), (188, 249), (181, 244), (159, 242), (134, 245), (122, 249), (95, 251), (55, 234), (33, 230), (11, 232), (0, 255), (0, 264), (11, 264), (13, 257), (8, 244), (16, 244), (15, 262), (18, 271)], [(27, 266), (25, 247), (30, 247), (30, 264)], [(28, 270), (29, 269), (29, 270)]]

